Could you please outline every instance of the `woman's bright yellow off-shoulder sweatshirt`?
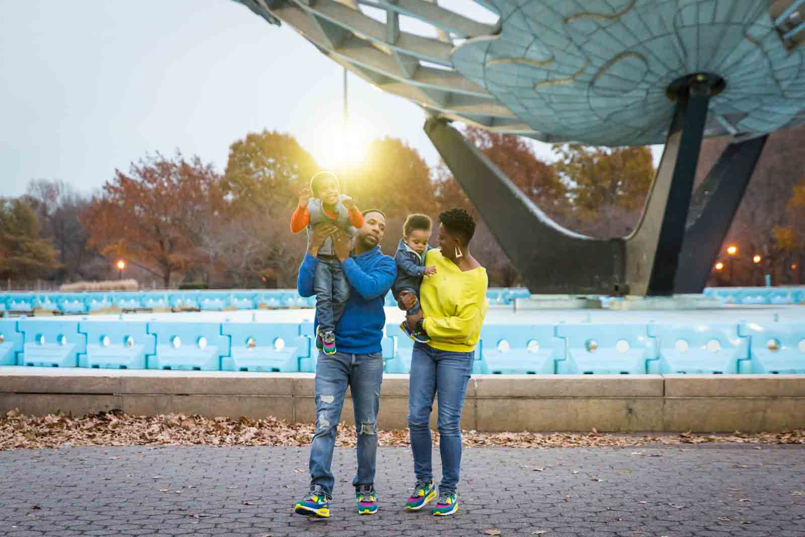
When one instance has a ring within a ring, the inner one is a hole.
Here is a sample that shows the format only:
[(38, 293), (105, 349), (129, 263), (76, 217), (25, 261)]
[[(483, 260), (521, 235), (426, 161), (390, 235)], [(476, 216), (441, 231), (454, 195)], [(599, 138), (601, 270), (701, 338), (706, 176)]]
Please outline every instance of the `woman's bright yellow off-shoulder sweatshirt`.
[(441, 250), (428, 250), (425, 266), (436, 266), (436, 274), (425, 276), (419, 299), (425, 316), (423, 328), (434, 349), (469, 353), (481, 337), (489, 301), (489, 278), (483, 266), (462, 272), (442, 256)]

